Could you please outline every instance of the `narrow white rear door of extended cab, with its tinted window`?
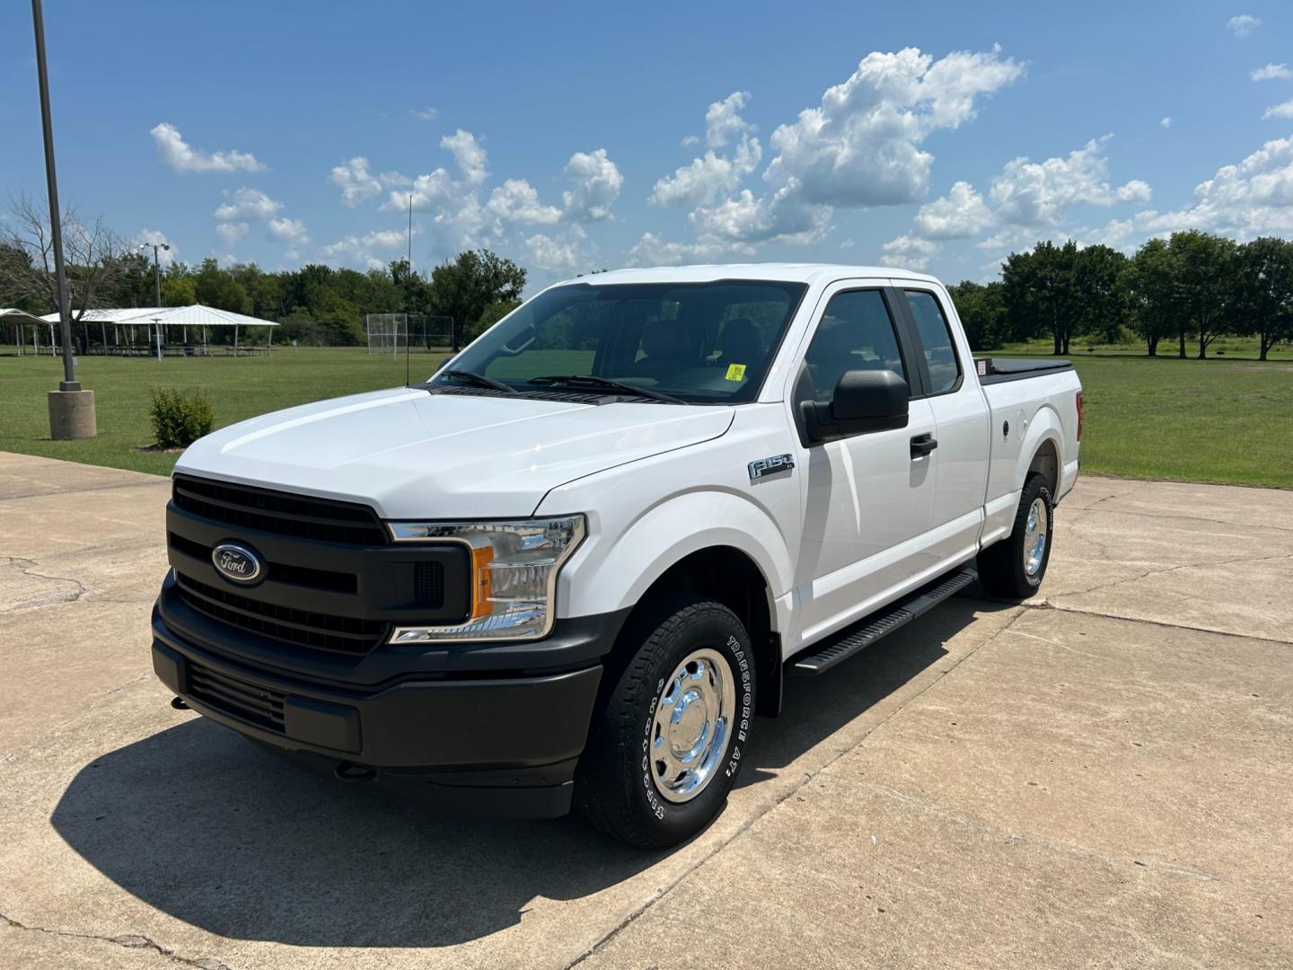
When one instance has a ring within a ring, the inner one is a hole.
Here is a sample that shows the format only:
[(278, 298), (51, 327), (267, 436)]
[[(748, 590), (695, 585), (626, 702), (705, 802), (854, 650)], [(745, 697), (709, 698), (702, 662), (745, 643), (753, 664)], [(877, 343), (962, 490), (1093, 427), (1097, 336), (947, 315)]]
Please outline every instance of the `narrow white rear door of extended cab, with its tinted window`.
[(935, 485), (928, 552), (939, 565), (952, 566), (978, 551), (990, 447), (988, 404), (968, 372), (970, 347), (959, 321), (953, 326), (946, 294), (912, 281), (893, 281), (893, 286), (918, 347), (915, 365), (939, 442), (931, 455)]

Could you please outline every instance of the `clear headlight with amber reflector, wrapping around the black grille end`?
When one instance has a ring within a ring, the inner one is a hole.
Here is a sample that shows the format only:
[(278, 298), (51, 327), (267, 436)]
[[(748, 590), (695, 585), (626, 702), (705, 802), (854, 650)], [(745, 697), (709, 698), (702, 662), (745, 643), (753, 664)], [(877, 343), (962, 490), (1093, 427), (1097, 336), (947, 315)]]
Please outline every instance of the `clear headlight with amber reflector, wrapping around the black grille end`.
[(387, 523), (396, 542), (460, 542), (471, 555), (471, 616), (403, 626), (390, 643), (538, 639), (556, 617), (557, 572), (584, 535), (582, 515), (511, 523)]

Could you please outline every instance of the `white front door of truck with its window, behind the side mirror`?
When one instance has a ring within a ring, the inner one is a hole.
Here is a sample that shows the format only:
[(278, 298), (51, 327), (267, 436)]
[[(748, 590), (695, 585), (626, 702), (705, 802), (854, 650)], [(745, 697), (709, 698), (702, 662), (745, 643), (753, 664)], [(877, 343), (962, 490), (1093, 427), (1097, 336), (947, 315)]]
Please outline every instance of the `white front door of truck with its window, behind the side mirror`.
[(935, 433), (934, 410), (900, 326), (900, 299), (883, 281), (833, 285), (800, 349), (791, 409), (796, 400), (830, 402), (848, 370), (892, 370), (912, 388), (905, 428), (798, 442), (804, 501), (795, 579), (800, 643), (870, 612), (931, 561), (935, 480), (928, 457), (913, 455), (912, 440)]

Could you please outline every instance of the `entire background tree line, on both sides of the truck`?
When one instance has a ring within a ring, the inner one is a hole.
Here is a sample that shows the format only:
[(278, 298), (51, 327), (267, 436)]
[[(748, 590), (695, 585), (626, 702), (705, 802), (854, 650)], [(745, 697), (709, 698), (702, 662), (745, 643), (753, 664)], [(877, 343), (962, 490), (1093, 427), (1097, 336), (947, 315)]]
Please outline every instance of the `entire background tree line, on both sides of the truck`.
[[(80, 325), (87, 309), (151, 307), (149, 256), (107, 229), (87, 224), (75, 210), (63, 216), (65, 261), (74, 338), (92, 339)], [(246, 313), (279, 325), (279, 339), (301, 344), (365, 341), (365, 314), (416, 313), (449, 317), (458, 338), (475, 338), (521, 300), (526, 272), (489, 250), (462, 252), (423, 274), (407, 260), (358, 272), (310, 264), (270, 273), (255, 263), (221, 266), (172, 263), (162, 273), (162, 304), (194, 303)], [(1236, 243), (1201, 232), (1149, 239), (1133, 256), (1108, 246), (1040, 242), (1011, 253), (1001, 279), (952, 287), (970, 344), (989, 350), (1006, 343), (1050, 336), (1055, 354), (1074, 338), (1121, 343), (1134, 334), (1148, 356), (1175, 341), (1177, 354), (1200, 358), (1224, 335), (1257, 338), (1261, 360), (1293, 341), (1293, 242), (1262, 237)], [(53, 253), (39, 206), (10, 203), (0, 235), (0, 307), (44, 314), (56, 309)]]

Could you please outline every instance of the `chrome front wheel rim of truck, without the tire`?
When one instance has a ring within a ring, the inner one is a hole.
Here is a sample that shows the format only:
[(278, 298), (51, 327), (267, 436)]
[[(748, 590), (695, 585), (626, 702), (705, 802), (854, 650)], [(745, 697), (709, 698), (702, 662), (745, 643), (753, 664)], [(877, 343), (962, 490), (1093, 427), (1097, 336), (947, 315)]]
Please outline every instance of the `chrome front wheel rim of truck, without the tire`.
[(688, 654), (665, 682), (650, 733), (652, 781), (670, 802), (689, 802), (714, 779), (727, 754), (736, 679), (721, 653)]

